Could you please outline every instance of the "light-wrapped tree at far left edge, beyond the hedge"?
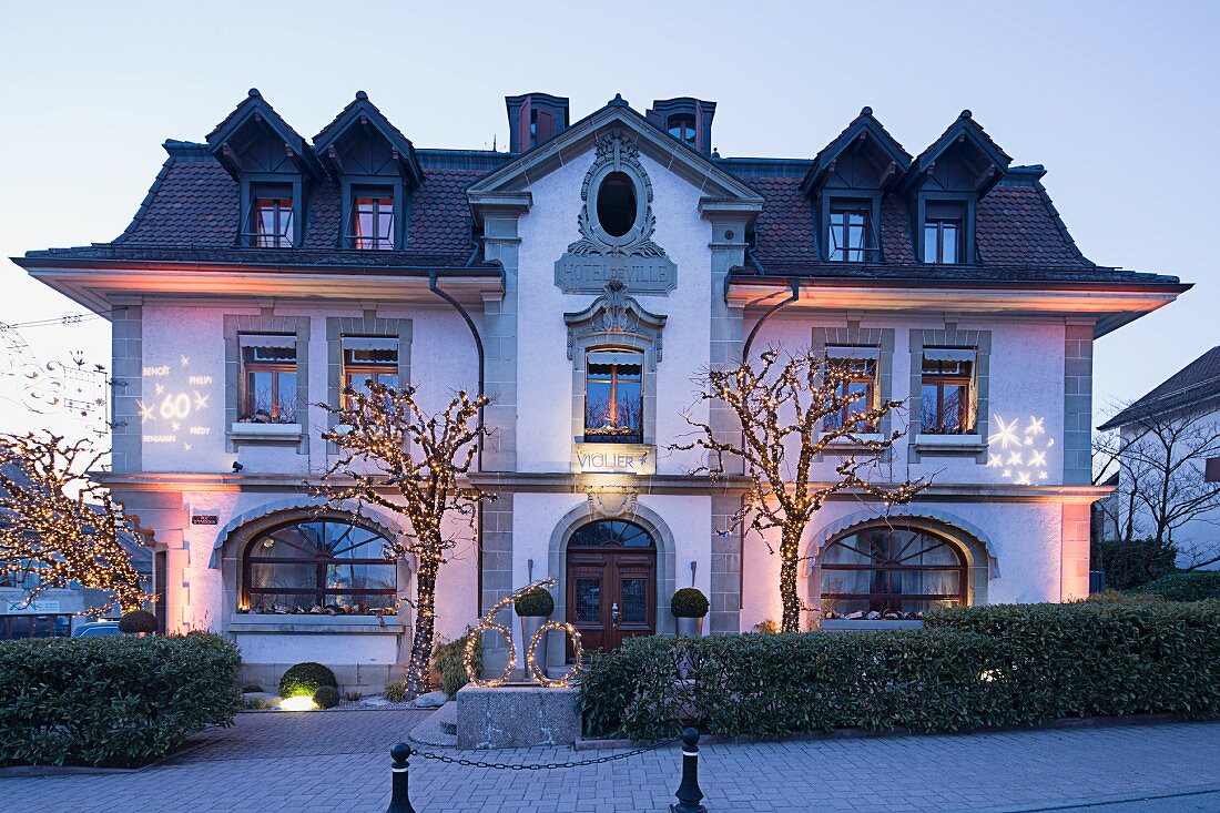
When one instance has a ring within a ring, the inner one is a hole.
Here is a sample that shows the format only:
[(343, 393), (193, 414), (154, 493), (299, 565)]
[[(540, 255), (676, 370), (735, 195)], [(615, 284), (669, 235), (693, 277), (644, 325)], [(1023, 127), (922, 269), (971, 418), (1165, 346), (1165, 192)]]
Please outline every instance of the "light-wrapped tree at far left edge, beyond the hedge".
[(139, 573), (118, 540), (148, 532), (89, 479), (102, 455), (88, 441), (51, 432), (0, 435), (0, 568), (28, 585), (27, 604), (77, 582), (110, 594), (92, 615), (144, 605)]

